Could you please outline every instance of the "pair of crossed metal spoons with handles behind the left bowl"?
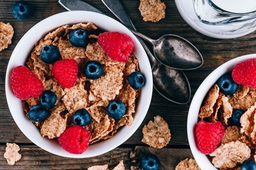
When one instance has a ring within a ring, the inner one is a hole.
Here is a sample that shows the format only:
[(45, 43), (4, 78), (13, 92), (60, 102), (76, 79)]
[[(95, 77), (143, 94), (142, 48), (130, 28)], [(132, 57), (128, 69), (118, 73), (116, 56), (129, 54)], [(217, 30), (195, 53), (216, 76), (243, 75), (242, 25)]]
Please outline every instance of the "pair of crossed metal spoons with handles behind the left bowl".
[[(59, 2), (68, 10), (87, 10), (102, 13), (84, 1), (72, 1), (73, 4), (79, 4), (76, 7), (70, 6), (73, 8), (69, 8), (70, 1), (59, 0)], [(151, 62), (153, 83), (156, 91), (174, 103), (188, 103), (191, 98), (191, 87), (186, 75), (181, 70), (196, 69), (203, 64), (203, 57), (196, 47), (177, 35), (164, 35), (158, 40), (152, 40), (136, 31), (118, 0), (102, 0), (102, 2), (125, 26), (130, 28), (132, 33), (151, 42), (153, 45), (154, 55), (145, 43), (139, 39)]]

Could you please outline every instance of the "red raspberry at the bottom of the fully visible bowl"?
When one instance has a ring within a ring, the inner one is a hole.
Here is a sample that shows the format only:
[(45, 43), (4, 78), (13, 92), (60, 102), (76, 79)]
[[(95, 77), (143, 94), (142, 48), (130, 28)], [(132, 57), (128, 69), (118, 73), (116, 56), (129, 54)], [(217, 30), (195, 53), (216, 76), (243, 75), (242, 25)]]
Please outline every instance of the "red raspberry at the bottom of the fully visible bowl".
[(58, 137), (58, 142), (63, 149), (71, 154), (82, 154), (89, 145), (90, 133), (79, 125), (67, 128)]

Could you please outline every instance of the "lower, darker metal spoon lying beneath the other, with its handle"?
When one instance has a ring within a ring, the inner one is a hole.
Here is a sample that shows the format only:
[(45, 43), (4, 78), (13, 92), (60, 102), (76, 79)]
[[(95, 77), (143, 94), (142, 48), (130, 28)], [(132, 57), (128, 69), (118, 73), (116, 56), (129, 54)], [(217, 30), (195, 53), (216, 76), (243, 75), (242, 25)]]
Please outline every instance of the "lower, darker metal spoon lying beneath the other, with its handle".
[[(119, 0), (102, 0), (102, 2), (125, 26), (136, 30)], [(146, 50), (151, 62), (154, 89), (169, 101), (178, 104), (188, 103), (191, 98), (191, 86), (186, 75), (181, 70), (171, 69), (171, 67), (166, 67), (158, 62), (145, 43), (141, 39), (138, 40)]]

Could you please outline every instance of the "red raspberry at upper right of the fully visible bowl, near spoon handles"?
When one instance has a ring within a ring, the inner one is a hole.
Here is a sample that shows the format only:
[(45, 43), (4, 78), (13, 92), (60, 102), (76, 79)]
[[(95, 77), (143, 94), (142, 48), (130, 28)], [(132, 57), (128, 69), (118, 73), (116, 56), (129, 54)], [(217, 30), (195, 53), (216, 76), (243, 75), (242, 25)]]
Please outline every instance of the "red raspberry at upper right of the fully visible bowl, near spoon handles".
[(112, 60), (118, 62), (127, 62), (134, 48), (132, 38), (119, 32), (101, 33), (97, 42)]

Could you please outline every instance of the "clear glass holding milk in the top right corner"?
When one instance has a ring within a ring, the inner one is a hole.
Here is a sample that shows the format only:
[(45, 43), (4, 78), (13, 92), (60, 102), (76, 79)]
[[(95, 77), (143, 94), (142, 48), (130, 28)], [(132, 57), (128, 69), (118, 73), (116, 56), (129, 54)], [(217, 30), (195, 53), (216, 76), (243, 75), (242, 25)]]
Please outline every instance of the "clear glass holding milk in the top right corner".
[(209, 25), (252, 21), (255, 26), (256, 0), (193, 0), (196, 15)]

